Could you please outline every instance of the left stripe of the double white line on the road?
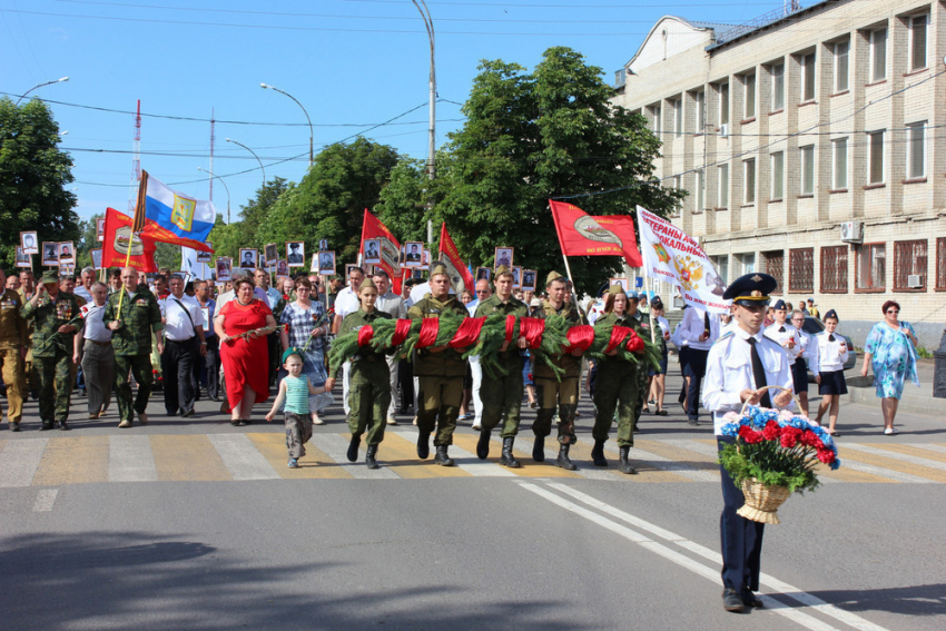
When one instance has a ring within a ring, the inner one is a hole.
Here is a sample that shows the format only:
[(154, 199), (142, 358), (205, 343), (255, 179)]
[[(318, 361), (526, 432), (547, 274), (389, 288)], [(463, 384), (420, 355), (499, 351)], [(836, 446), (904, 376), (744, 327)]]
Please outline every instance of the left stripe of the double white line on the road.
[[(623, 525), (621, 525), (617, 522), (613, 522), (613, 521), (609, 520), (608, 517), (605, 517), (604, 515), (592, 512), (588, 509), (579, 506), (578, 504), (573, 504), (572, 502), (569, 502), (568, 500), (560, 497), (559, 495), (555, 495), (554, 493), (546, 491), (545, 489), (542, 489), (541, 486), (538, 486), (538, 485), (535, 485), (531, 482), (519, 482), (519, 485), (522, 486), (523, 489), (525, 489), (526, 491), (535, 493), (540, 497), (543, 497), (543, 499), (548, 500), (549, 502), (551, 502), (551, 503), (553, 503), (553, 504), (555, 504), (555, 505), (558, 505), (558, 506), (571, 512), (571, 513), (580, 515), (580, 516), (589, 520), (590, 522), (593, 522), (593, 523), (600, 525), (601, 528), (613, 532), (614, 534), (618, 534), (618, 535), (623, 536), (624, 539), (627, 539), (629, 541), (632, 541), (633, 543), (637, 543), (641, 548), (649, 550), (650, 552), (653, 552), (654, 554), (663, 556), (668, 561), (676, 563), (676, 564), (680, 565), (681, 568), (690, 570), (691, 572), (693, 572), (694, 574), (697, 574), (699, 576), (702, 576), (702, 578), (704, 578), (704, 579), (707, 579), (711, 582), (715, 582), (715, 583), (719, 582), (719, 570), (718, 569), (713, 569), (713, 568), (709, 568), (707, 565), (703, 565), (702, 563), (699, 563), (696, 560), (677, 552), (676, 550), (671, 550), (670, 548), (668, 548), (667, 545), (664, 545), (662, 543), (653, 541), (652, 539), (649, 539), (646, 535), (643, 535), (643, 534), (641, 534), (641, 533), (639, 533), (634, 530), (631, 530), (631, 529), (623, 526)], [(556, 487), (556, 489), (558, 487), (568, 489), (568, 486), (564, 486), (563, 484), (560, 484), (560, 483), (549, 483), (549, 485)], [(592, 500), (595, 503), (601, 504), (603, 506), (608, 506), (608, 504), (604, 504), (603, 502), (598, 502), (593, 497), (589, 497), (589, 500)], [(614, 511), (617, 511), (617, 509), (614, 509)], [(628, 515), (628, 516), (631, 516), (631, 515)], [(634, 520), (637, 520), (637, 517), (634, 517)], [(637, 521), (642, 521), (642, 520), (637, 520)], [(647, 523), (647, 522), (643, 522), (643, 523)], [(648, 524), (648, 525), (651, 525), (651, 524)], [(662, 529), (659, 529), (658, 526), (651, 525), (651, 528), (654, 529), (654, 530), (662, 530)], [(667, 531), (663, 531), (663, 532), (667, 532)], [(677, 536), (677, 535), (674, 535), (674, 536)], [(678, 539), (680, 539), (680, 538), (678, 538)], [(801, 612), (797, 609), (785, 607), (785, 605), (782, 605), (782, 603), (778, 603), (778, 601), (776, 601), (772, 598), (766, 597), (765, 594), (760, 594), (760, 595), (765, 600), (767, 607), (771, 605), (771, 609), (769, 610), (771, 613), (777, 613), (779, 615), (788, 618), (789, 620), (791, 620), (791, 621), (794, 621), (794, 622), (796, 622), (796, 623), (798, 623), (802, 627), (811, 629), (811, 631), (829, 631), (831, 629), (835, 629), (830, 624), (826, 624), (825, 622), (821, 622), (817, 618), (808, 615), (805, 612)], [(788, 595), (788, 594), (785, 594), (785, 595)], [(778, 607), (776, 603), (778, 603), (778, 605), (781, 605), (781, 607)]]

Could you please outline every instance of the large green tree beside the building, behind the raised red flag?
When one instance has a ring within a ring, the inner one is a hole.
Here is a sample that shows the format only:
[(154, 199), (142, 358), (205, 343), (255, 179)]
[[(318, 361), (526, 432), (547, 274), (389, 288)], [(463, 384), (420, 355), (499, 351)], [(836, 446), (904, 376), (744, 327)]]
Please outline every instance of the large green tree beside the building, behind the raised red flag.
[[(474, 262), (513, 246), (516, 265), (562, 269), (549, 198), (590, 215), (630, 215), (637, 204), (667, 215), (682, 194), (653, 176), (660, 141), (644, 119), (612, 105), (600, 68), (564, 47), (550, 48), (533, 73), (516, 63), (483, 61), (466, 122), (450, 135), (435, 184), (434, 219)], [(605, 193), (607, 191), (607, 193)], [(619, 257), (571, 257), (579, 289), (620, 269)]]

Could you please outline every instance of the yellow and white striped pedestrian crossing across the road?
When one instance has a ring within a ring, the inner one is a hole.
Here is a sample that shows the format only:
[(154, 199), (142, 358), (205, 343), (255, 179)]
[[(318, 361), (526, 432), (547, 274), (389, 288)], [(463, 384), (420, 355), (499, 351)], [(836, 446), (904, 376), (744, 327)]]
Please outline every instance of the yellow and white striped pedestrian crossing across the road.
[[(306, 444), (299, 469), (286, 466), (285, 436), (279, 432), (210, 434), (122, 434), (18, 437), (0, 440), (0, 487), (60, 486), (111, 482), (201, 482), (250, 480), (421, 480), (436, 477), (571, 477), (610, 480), (629, 484), (700, 483), (719, 481), (716, 443), (706, 440), (638, 440), (631, 457), (639, 475), (615, 467), (591, 465), (591, 437), (571, 450), (578, 471), (554, 465), (556, 443), (546, 442), (545, 462), (532, 461), (532, 437), (518, 442), (522, 467), (496, 463), (501, 442), (492, 441), (491, 459), (474, 453), (477, 435), (454, 435), (451, 456), (455, 467), (420, 461), (416, 431), (391, 430), (380, 448), (382, 469), (345, 457), (347, 433), (317, 432)], [(364, 459), (364, 444), (362, 456)], [(937, 443), (850, 443), (839, 445), (842, 466), (822, 467), (820, 479), (834, 483), (946, 483), (946, 445)], [(617, 445), (605, 451), (617, 462)]]

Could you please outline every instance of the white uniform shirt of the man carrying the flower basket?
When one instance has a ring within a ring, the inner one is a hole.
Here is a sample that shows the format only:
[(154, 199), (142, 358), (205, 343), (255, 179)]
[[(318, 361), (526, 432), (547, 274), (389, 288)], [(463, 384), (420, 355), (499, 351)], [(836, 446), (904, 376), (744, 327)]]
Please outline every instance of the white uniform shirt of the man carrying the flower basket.
[[(722, 435), (726, 413), (738, 413), (742, 410), (742, 391), (756, 390), (752, 347), (747, 342), (749, 337), (749, 333), (742, 327), (737, 327), (732, 333), (720, 337), (707, 355), (707, 375), (703, 377), (701, 402), (703, 407), (712, 412), (713, 432), (717, 436)], [(751, 337), (756, 338), (756, 348), (766, 368), (766, 383), (791, 391), (791, 369), (785, 348), (766, 337), (761, 331)], [(777, 394), (777, 391), (769, 391), (769, 396)], [(791, 405), (794, 403), (789, 407)]]

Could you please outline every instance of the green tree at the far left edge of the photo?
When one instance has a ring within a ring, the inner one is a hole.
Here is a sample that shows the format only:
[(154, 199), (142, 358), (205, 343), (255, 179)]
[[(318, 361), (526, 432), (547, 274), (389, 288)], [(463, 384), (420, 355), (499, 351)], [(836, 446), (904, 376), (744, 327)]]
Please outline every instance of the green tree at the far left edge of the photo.
[[(40, 241), (78, 241), (72, 158), (60, 150), (59, 126), (45, 102), (0, 99), (0, 265), (11, 267), (21, 230)], [(38, 263), (38, 262), (36, 262)]]

